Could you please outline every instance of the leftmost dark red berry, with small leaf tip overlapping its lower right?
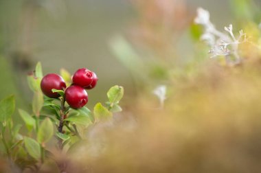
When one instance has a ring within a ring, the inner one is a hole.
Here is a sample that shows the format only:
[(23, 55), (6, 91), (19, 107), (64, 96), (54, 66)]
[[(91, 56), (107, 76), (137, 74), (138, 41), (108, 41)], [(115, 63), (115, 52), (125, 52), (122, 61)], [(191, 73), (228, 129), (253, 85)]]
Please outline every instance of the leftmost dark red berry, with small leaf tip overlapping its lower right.
[(56, 73), (49, 73), (41, 80), (41, 90), (47, 97), (58, 98), (58, 93), (53, 93), (52, 89), (63, 90), (66, 88), (65, 81)]

